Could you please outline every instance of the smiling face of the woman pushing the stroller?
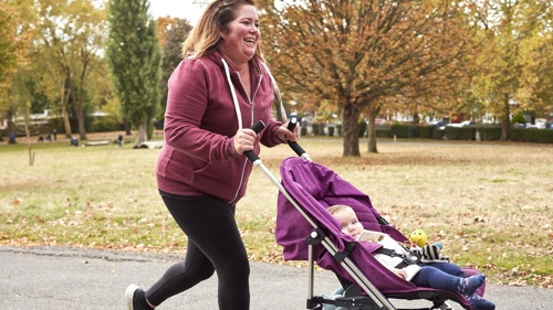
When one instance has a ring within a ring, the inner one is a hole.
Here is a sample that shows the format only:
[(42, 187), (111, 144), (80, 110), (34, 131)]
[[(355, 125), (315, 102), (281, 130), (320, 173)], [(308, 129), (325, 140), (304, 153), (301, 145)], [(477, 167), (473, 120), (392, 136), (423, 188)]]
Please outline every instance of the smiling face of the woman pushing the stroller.
[(221, 30), (221, 43), (219, 51), (232, 63), (244, 64), (253, 57), (258, 41), (259, 18), (258, 10), (253, 6), (241, 6), (237, 18)]

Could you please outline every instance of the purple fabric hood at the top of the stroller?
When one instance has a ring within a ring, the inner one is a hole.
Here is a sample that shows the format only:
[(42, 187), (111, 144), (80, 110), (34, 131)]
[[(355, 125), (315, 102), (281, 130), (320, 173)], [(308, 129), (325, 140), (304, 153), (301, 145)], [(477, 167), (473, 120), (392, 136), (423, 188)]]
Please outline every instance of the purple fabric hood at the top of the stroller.
[[(340, 250), (344, 249), (343, 240), (353, 240), (342, 234), (340, 223), (326, 211), (334, 204), (349, 205), (357, 214), (365, 229), (380, 231), (378, 211), (373, 207), (371, 199), (355, 186), (346, 182), (332, 170), (301, 158), (288, 158), (280, 167), (282, 186), (295, 200), (311, 218), (330, 232), (330, 237)], [(284, 247), (284, 259), (306, 260), (306, 236), (314, 227), (280, 193), (276, 214), (276, 242)], [(406, 238), (397, 231), (386, 231), (399, 242)], [(315, 252), (315, 257), (324, 250)]]

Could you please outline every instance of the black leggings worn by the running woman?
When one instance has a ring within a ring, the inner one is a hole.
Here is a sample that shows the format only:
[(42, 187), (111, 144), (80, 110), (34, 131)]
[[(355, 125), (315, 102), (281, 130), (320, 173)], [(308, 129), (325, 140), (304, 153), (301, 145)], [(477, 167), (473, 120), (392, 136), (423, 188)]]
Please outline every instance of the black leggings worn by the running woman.
[(217, 270), (219, 309), (249, 309), (250, 265), (234, 220), (234, 206), (207, 195), (185, 197), (161, 192), (161, 197), (188, 236), (188, 248), (185, 260), (169, 267), (147, 290), (147, 300), (159, 306)]

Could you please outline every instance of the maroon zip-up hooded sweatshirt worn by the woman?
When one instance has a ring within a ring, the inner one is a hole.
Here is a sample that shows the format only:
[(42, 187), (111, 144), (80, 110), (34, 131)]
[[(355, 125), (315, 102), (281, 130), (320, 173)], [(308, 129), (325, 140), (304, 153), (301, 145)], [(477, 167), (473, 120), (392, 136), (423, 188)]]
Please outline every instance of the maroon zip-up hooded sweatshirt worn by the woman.
[[(231, 84), (228, 82), (230, 75)], [(216, 51), (178, 65), (168, 81), (165, 145), (156, 163), (158, 189), (177, 195), (209, 194), (234, 205), (246, 193), (252, 163), (234, 150), (239, 129), (232, 88), (239, 104), (242, 128), (258, 120), (265, 124), (254, 143), (274, 147), (282, 141), (282, 122), (271, 113), (274, 92), (271, 75), (255, 56), (250, 61), (251, 100), (239, 73)]]

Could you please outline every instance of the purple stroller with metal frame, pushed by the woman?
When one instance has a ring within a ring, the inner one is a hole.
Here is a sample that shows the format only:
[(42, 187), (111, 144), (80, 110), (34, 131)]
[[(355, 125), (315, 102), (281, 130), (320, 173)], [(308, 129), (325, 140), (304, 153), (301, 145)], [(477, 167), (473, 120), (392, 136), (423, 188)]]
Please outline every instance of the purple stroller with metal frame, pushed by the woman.
[[(341, 309), (397, 309), (390, 299), (427, 300), (428, 308), (453, 309), (448, 301), (455, 301), (465, 309), (472, 309), (461, 295), (416, 287), (386, 269), (374, 256), (349, 236), (342, 234), (340, 225), (326, 212), (333, 204), (349, 205), (365, 229), (382, 231), (397, 242), (407, 238), (386, 222), (376, 211), (369, 197), (355, 189), (330, 169), (313, 162), (295, 142), (292, 149), (299, 158), (288, 158), (280, 167), (279, 182), (254, 154), (247, 154), (254, 165), (280, 190), (278, 197), (276, 242), (283, 246), (285, 260), (307, 261), (306, 309), (322, 310), (332, 304)], [(314, 296), (314, 264), (333, 271), (345, 289), (344, 296), (328, 299)], [(472, 268), (462, 268), (466, 276), (480, 274)], [(486, 285), (477, 293), (483, 296)]]

